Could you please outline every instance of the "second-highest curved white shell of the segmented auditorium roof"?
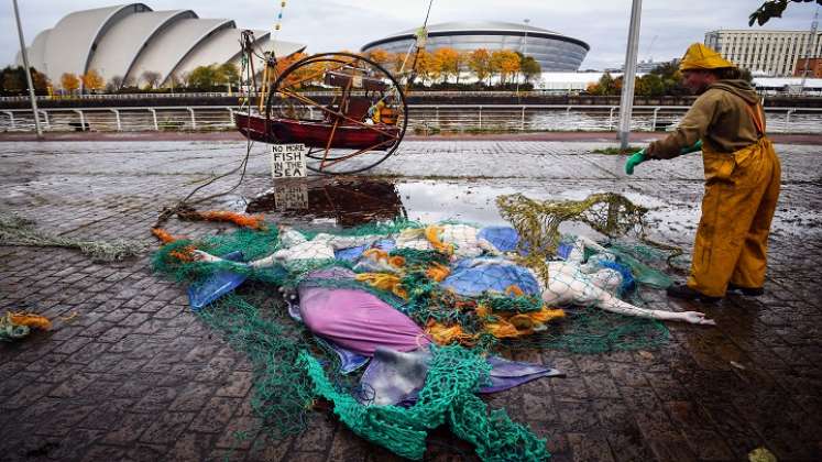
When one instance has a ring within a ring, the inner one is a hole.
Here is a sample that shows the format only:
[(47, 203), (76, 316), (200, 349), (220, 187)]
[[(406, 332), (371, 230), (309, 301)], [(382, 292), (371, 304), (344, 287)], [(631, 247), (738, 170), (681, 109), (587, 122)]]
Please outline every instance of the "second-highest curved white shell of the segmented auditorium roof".
[(124, 18), (99, 41), (88, 68), (97, 70), (106, 80), (124, 77), (154, 36), (177, 21), (196, 18), (197, 13), (191, 10), (149, 11)]

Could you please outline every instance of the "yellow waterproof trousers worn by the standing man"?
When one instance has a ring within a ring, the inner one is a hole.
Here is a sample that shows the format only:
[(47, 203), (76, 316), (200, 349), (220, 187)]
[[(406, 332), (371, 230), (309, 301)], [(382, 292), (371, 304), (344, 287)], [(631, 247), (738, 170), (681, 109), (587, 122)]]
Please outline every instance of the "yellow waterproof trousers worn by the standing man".
[(781, 167), (770, 140), (734, 153), (703, 150), (705, 196), (688, 286), (711, 297), (727, 284), (761, 287)]

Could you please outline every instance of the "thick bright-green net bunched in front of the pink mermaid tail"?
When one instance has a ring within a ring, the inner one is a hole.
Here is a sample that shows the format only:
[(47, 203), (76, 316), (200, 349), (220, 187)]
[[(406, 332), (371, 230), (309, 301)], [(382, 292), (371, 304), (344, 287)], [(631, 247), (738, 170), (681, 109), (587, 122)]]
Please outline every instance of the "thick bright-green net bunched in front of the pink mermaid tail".
[(363, 406), (340, 393), (328, 381), (317, 360), (307, 353), (314, 391), (335, 405), (335, 414), (357, 435), (408, 459), (420, 460), (428, 430), (448, 424), (451, 431), (472, 444), (485, 461), (541, 461), (550, 454), (545, 440), (511, 421), (504, 411), (487, 413), (474, 392), (487, 380), (485, 359), (462, 346), (432, 348), (425, 386), (410, 408)]

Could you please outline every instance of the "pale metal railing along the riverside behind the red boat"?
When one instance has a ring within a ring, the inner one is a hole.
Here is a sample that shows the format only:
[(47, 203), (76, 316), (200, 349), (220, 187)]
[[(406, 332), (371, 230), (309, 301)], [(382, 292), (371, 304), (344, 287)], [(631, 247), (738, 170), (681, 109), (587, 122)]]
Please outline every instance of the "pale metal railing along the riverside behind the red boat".
[[(41, 109), (46, 131), (209, 131), (230, 130), (239, 106)], [(408, 130), (438, 132), (613, 131), (618, 106), (414, 105)], [(679, 122), (686, 106), (635, 106), (634, 131), (665, 131)], [(821, 108), (766, 108), (768, 132), (822, 134)], [(0, 131), (34, 130), (31, 109), (0, 110)]]

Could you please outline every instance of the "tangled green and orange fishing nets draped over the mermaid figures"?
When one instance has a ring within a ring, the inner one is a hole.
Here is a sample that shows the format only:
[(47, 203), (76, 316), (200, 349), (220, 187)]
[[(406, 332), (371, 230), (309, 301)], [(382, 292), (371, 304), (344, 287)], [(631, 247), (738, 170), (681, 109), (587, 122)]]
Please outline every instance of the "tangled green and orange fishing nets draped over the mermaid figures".
[[(605, 202), (616, 204), (620, 209), (603, 216)], [(644, 209), (616, 195), (598, 195), (572, 205), (539, 204), (508, 196), (501, 197), (498, 205), (522, 237), (519, 252), (511, 255), (537, 274), (547, 272), (545, 258), (555, 257), (563, 242), (558, 229), (562, 221), (583, 221), (609, 237), (616, 237), (642, 227), (644, 215)], [(484, 403), (474, 395), (487, 381), (486, 354), (501, 346), (580, 353), (650, 349), (668, 337), (661, 323), (649, 319), (592, 307), (568, 314), (547, 307), (538, 296), (536, 282), (530, 284), (527, 278), (495, 292), (457, 295), (443, 284), (446, 277), (458, 273), (449, 268), (449, 257), (465, 249), (456, 249), (440, 239), (441, 229), (436, 226), (397, 221), (325, 233), (292, 230), (289, 234), (259, 221), (254, 228), (198, 240), (174, 239), (155, 230), (155, 235), (167, 243), (155, 254), (153, 263), (156, 271), (180, 283), (198, 284), (226, 271), (248, 277), (235, 293), (207, 306), (199, 315), (249, 355), (255, 374), (253, 407), (275, 436), (304, 430), (307, 413), (316, 399), (324, 398), (333, 403), (335, 413), (354, 432), (406, 458), (421, 459), (427, 431), (447, 422), (454, 435), (474, 444), (483, 460), (541, 460), (549, 457), (544, 440), (511, 421), (503, 410), (487, 413)], [(320, 251), (270, 267), (226, 261), (206, 263), (191, 257), (195, 249), (212, 255), (240, 250), (243, 260), (254, 261), (299, 245), (310, 250), (310, 244), (317, 241), (350, 242), (354, 246), (360, 241), (373, 243), (374, 237), (388, 235), (416, 237), (427, 246), (392, 250), (373, 246), (365, 251), (371, 256), (372, 270), (357, 268), (353, 279), (311, 278), (310, 273), (317, 270), (355, 268), (351, 260), (329, 257)], [(661, 272), (637, 258), (626, 266), (631, 270), (623, 272), (637, 273), (639, 283), (666, 284)], [(465, 274), (476, 277), (470, 271)], [(457, 278), (450, 284), (464, 283), (469, 287), (474, 282)], [(305, 327), (288, 318), (282, 300), (270, 296), (274, 286), (295, 289), (298, 284), (369, 292), (425, 328), (441, 346), (432, 348), (430, 370), (415, 406), (407, 409), (369, 406), (352, 397), (357, 392), (355, 380), (339, 372), (337, 356)], [(552, 322), (563, 317), (562, 322)]]

